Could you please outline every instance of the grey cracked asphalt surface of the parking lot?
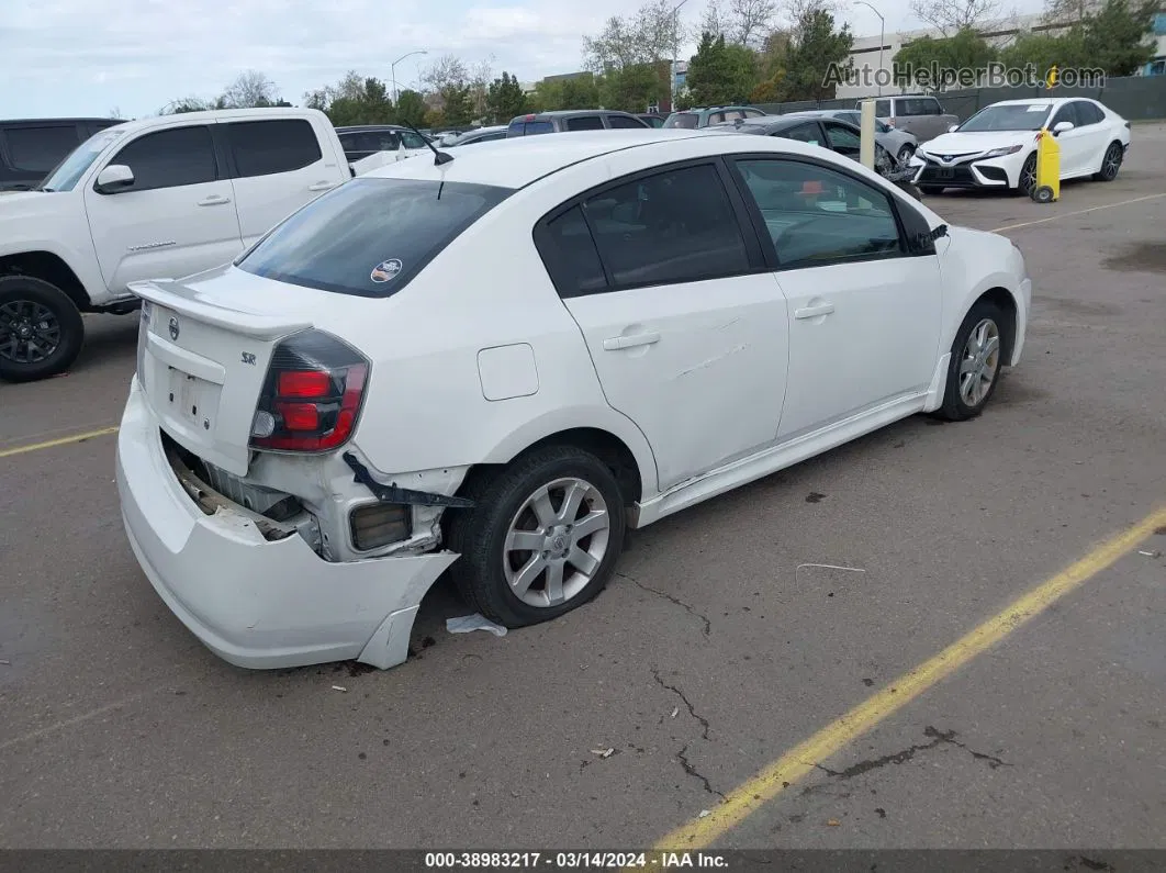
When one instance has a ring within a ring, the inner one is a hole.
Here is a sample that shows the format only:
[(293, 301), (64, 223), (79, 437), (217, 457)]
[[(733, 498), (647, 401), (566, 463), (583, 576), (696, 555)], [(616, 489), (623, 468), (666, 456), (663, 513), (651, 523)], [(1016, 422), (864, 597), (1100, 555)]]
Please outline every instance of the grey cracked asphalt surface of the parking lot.
[[(448, 634), (438, 585), (388, 671), (239, 670), (171, 615), (113, 484), (136, 319), (89, 317), (72, 373), (0, 386), (0, 845), (1166, 847), (1166, 126), (1133, 134), (1116, 182), (1056, 204), (927, 198), (1034, 280), (982, 417), (637, 531), (547, 625)], [(787, 787), (758, 779), (823, 730)]]

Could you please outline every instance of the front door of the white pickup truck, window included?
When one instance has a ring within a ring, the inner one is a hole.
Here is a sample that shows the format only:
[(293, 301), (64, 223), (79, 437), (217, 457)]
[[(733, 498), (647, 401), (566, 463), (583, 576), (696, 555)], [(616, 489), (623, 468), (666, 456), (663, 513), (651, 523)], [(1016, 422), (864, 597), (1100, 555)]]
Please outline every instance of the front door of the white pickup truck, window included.
[(231, 182), (219, 171), (213, 125), (154, 131), (105, 162), (126, 164), (134, 184), (85, 189), (101, 276), (114, 295), (140, 279), (176, 279), (230, 262), (243, 247)]

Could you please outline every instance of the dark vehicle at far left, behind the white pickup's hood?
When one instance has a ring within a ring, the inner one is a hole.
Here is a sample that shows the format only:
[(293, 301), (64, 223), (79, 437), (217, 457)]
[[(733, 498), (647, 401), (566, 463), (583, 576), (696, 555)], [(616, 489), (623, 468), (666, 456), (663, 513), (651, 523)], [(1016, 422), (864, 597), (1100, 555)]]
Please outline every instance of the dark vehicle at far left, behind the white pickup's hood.
[(0, 121), (0, 191), (29, 191), (70, 152), (112, 118), (43, 118)]

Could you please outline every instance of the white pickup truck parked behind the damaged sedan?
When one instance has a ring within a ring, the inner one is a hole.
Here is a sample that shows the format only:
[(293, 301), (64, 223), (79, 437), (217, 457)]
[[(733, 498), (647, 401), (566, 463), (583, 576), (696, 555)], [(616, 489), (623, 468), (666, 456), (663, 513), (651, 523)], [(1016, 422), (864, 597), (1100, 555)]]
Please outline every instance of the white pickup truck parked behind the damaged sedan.
[(66, 371), (82, 312), (136, 310), (131, 282), (227, 263), (353, 175), (317, 110), (190, 112), (93, 134), (36, 190), (0, 197), (0, 379)]

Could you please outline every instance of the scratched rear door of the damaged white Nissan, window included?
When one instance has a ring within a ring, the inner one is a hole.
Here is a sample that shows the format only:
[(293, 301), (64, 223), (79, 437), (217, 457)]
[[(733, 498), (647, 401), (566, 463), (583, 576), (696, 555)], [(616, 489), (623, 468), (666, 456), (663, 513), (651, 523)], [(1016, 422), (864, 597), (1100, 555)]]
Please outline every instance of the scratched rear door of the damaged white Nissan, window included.
[(640, 175), (538, 232), (607, 402), (647, 437), (661, 488), (772, 444), (781, 416), (785, 300), (722, 173), (709, 162)]

